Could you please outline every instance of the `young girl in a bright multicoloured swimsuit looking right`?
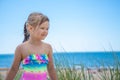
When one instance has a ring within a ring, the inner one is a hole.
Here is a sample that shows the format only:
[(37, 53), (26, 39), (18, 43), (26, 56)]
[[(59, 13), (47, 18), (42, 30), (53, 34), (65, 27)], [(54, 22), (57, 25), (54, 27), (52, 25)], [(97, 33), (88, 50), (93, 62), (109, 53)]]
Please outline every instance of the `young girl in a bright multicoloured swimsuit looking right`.
[(57, 80), (52, 58), (52, 47), (43, 42), (48, 34), (49, 19), (42, 13), (31, 13), (24, 25), (24, 41), (15, 50), (14, 62), (6, 80), (13, 80), (20, 63), (23, 73), (20, 80)]

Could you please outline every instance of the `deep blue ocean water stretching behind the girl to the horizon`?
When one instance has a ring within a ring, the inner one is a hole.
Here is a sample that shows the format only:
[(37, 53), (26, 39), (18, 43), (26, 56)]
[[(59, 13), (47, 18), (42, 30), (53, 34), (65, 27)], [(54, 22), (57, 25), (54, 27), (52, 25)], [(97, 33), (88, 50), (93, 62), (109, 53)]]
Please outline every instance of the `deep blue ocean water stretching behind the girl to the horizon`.
[[(0, 53), (0, 68), (10, 68), (14, 54)], [(86, 68), (115, 67), (120, 62), (120, 52), (55, 52), (54, 63), (62, 67)]]

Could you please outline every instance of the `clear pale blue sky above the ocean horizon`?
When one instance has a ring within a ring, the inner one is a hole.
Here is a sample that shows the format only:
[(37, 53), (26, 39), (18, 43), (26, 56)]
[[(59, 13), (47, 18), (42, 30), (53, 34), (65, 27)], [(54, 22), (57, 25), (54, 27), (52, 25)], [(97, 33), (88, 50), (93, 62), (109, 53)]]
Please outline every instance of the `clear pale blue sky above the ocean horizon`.
[(0, 53), (14, 53), (31, 12), (49, 17), (54, 52), (120, 51), (120, 0), (0, 0)]

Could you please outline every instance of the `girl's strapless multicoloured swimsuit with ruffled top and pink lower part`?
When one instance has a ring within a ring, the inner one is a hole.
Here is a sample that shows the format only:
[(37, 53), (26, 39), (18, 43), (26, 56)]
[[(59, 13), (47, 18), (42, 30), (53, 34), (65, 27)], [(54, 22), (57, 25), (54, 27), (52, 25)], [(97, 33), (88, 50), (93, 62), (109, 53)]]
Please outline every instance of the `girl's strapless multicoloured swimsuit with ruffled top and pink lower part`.
[(47, 80), (47, 54), (30, 54), (22, 61), (20, 80)]

